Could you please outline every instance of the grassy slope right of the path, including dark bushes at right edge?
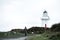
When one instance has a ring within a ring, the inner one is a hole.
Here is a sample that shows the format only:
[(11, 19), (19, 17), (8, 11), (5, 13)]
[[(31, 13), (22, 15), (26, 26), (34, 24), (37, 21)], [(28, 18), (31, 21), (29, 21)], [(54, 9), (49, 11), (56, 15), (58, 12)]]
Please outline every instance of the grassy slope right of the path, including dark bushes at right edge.
[(60, 23), (52, 25), (48, 31), (40, 35), (30, 37), (29, 40), (60, 40)]

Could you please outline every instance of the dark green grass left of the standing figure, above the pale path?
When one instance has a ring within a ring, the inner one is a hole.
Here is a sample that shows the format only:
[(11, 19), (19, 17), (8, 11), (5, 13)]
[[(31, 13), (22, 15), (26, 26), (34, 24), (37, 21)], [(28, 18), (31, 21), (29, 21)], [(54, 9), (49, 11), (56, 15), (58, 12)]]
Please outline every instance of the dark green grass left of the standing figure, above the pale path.
[(0, 38), (18, 38), (18, 37), (23, 37), (25, 36), (22, 33), (8, 33), (8, 32), (0, 32)]

